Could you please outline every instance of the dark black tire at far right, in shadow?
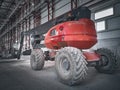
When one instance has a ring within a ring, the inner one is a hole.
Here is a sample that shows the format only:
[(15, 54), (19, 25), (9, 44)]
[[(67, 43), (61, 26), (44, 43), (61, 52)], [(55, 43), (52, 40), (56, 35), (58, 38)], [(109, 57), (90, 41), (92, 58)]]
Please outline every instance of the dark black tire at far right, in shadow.
[[(100, 73), (114, 73), (117, 68), (117, 62), (114, 53), (107, 48), (100, 48), (96, 51), (96, 53), (101, 55), (100, 61), (97, 62), (97, 65), (95, 66), (96, 70)], [(103, 62), (106, 62), (106, 64), (102, 64)]]

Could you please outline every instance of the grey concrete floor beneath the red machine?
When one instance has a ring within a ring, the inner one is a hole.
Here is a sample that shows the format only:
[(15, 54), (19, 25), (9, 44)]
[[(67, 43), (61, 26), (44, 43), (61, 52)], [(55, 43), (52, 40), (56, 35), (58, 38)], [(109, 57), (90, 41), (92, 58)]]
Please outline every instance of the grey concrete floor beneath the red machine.
[(57, 80), (54, 62), (46, 62), (41, 71), (30, 68), (26, 60), (0, 60), (0, 90), (120, 90), (120, 71), (114, 75), (89, 68), (88, 78), (78, 86), (67, 86)]

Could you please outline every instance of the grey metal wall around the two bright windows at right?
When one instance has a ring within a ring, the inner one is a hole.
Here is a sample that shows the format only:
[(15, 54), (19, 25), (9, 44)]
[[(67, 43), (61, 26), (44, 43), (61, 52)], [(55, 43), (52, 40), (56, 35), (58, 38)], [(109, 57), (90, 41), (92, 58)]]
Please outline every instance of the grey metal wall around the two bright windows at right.
[[(95, 13), (113, 7), (113, 15), (95, 20)], [(92, 19), (97, 23), (105, 21), (105, 30), (97, 32), (98, 43), (93, 49), (108, 48), (120, 58), (120, 1), (109, 0), (97, 6), (91, 7)], [(120, 60), (119, 60), (120, 61)]]

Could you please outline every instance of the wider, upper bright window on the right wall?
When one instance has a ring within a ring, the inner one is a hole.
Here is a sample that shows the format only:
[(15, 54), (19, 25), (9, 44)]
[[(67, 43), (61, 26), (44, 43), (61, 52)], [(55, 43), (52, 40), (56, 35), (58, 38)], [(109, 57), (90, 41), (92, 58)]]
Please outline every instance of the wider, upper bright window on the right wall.
[(113, 7), (96, 12), (95, 13), (95, 20), (106, 17), (106, 16), (110, 16), (110, 15), (113, 15)]

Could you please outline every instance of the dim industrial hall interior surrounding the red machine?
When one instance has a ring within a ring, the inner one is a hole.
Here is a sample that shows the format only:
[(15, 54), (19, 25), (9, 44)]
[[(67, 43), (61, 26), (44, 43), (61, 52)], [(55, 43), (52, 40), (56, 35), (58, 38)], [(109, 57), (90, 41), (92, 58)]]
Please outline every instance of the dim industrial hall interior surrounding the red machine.
[[(45, 36), (57, 21), (81, 7), (91, 11), (95, 23), (98, 41), (90, 49), (102, 48), (117, 69), (105, 74), (89, 67), (83, 82), (69, 86), (59, 82), (55, 61), (45, 61), (42, 70), (31, 68), (32, 35)], [(119, 9), (120, 0), (0, 0), (0, 90), (120, 90)]]

